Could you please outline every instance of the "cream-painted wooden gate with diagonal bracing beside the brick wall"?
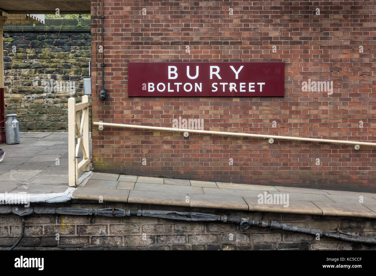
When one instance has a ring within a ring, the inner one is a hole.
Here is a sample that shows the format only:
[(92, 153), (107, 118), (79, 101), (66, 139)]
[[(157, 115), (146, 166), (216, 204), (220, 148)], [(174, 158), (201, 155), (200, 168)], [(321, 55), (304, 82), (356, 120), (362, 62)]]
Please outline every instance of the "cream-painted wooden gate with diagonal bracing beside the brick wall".
[[(68, 99), (68, 182), (69, 186), (78, 184), (78, 174), (87, 172), (90, 165), (89, 147), (89, 96), (82, 97), (76, 104), (75, 98)], [(80, 111), (82, 116), (80, 119)], [(76, 144), (77, 134), (77, 144)], [(82, 149), (82, 160), (78, 163), (78, 152)]]

